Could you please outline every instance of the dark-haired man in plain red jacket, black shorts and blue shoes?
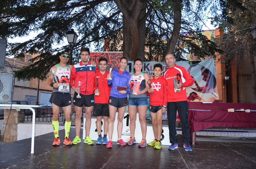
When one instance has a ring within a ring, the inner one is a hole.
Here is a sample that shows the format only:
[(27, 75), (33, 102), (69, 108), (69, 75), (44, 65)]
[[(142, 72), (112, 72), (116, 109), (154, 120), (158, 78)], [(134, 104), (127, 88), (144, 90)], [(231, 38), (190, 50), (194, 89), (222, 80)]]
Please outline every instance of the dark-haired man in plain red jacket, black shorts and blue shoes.
[[(97, 116), (96, 128), (99, 138), (96, 141), (96, 144), (107, 144), (107, 134), (108, 134), (108, 118), (109, 118), (109, 109), (108, 109), (108, 99), (111, 88), (108, 86), (107, 75), (109, 71), (106, 70), (108, 60), (106, 58), (99, 59), (99, 68), (100, 70), (96, 71), (94, 75), (94, 109)], [(97, 79), (97, 80), (96, 80)], [(98, 82), (98, 86), (97, 86)], [(104, 136), (101, 135), (101, 121), (102, 117), (104, 120)]]

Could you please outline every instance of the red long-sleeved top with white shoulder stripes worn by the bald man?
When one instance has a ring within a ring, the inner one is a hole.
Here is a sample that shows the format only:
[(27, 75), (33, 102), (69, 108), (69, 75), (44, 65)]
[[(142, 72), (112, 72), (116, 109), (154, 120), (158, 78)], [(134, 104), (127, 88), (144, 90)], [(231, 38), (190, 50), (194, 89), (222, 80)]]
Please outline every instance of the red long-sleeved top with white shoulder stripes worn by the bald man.
[[(177, 73), (181, 74), (180, 83), (183, 83), (180, 92), (174, 92), (173, 78), (177, 78)], [(191, 86), (194, 80), (184, 67), (174, 64), (173, 67), (168, 68), (164, 72), (164, 79), (167, 81), (168, 86), (168, 102), (187, 101), (186, 87)]]

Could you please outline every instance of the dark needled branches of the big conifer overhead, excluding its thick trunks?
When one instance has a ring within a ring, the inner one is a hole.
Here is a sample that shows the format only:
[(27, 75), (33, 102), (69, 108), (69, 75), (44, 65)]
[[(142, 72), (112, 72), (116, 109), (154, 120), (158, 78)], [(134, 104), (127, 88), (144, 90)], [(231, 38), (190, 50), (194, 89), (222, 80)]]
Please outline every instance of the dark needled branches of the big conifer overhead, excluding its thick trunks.
[[(121, 0), (120, 0), (121, 1)], [(202, 20), (206, 9), (216, 8), (212, 0), (179, 0), (174, 6), (173, 1), (146, 1), (146, 55), (149, 61), (161, 60), (174, 28), (174, 10), (181, 9), (181, 32), (195, 33), (201, 30)], [(151, 10), (153, 8), (153, 10)], [(104, 38), (108, 38), (114, 45), (110, 51), (117, 51), (116, 44), (123, 41), (122, 13), (114, 1), (111, 0), (4, 0), (0, 4), (0, 36), (12, 38), (25, 37), (30, 32), (37, 35), (23, 43), (8, 43), (7, 56), (24, 57), (24, 53), (40, 56), (28, 67), (16, 71), (18, 79), (31, 78), (46, 79), (51, 66), (59, 62), (58, 52), (69, 50), (69, 45), (56, 48), (66, 39), (66, 32), (75, 30), (79, 39), (73, 48), (72, 64), (79, 62), (80, 48), (94, 45), (96, 50), (103, 51)], [(142, 10), (141, 10), (142, 11)], [(141, 21), (138, 21), (141, 24)], [(177, 60), (184, 60), (187, 50), (180, 45), (189, 46), (189, 52), (194, 52), (199, 58), (211, 55), (217, 51), (216, 45), (201, 35), (193, 37), (201, 42), (201, 46), (187, 41), (179, 36), (174, 50)], [(122, 50), (122, 49), (121, 49)]]

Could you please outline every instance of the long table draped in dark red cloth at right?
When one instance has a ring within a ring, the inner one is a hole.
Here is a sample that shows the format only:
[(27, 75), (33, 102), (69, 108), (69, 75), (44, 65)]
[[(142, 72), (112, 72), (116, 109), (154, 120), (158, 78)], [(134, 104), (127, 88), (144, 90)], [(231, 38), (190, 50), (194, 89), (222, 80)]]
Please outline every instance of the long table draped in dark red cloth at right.
[(256, 128), (256, 112), (228, 112), (231, 108), (256, 110), (256, 104), (188, 102), (188, 108), (193, 144), (195, 144), (195, 132), (203, 129), (212, 127)]

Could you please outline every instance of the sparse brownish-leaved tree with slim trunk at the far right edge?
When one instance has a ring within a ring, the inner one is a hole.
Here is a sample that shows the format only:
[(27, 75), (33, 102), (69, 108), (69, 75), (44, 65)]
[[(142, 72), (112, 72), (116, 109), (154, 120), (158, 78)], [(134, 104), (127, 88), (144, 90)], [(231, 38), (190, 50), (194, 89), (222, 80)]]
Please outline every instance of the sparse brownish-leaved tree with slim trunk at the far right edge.
[[(220, 0), (222, 13), (212, 18), (213, 23), (223, 29), (223, 36), (217, 39), (220, 48), (224, 47), (223, 63), (228, 71), (232, 64), (240, 64), (245, 54), (249, 55), (252, 82), (252, 103), (256, 103), (255, 57), (256, 41), (251, 29), (256, 25), (255, 0)], [(248, 65), (249, 66), (249, 65)]]

